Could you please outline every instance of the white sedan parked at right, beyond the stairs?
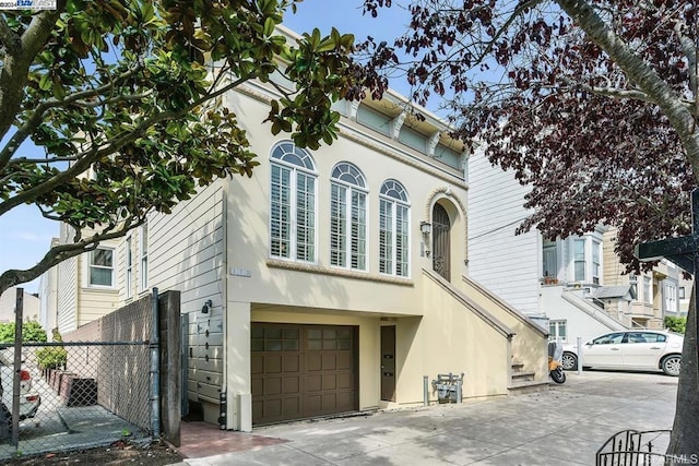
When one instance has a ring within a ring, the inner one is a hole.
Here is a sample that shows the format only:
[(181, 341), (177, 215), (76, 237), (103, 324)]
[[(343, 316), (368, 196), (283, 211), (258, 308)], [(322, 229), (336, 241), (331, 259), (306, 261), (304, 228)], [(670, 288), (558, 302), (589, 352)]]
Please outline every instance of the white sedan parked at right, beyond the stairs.
[[(667, 331), (612, 332), (585, 343), (583, 367), (625, 370), (662, 370), (679, 375), (684, 336)], [(578, 369), (578, 348), (564, 345), (561, 362), (565, 370)]]

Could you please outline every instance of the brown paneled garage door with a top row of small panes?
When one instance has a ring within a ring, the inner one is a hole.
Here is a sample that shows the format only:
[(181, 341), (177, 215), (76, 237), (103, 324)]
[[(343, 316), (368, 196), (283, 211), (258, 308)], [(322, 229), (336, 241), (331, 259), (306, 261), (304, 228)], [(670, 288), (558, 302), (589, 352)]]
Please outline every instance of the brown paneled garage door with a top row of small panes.
[(358, 409), (356, 327), (252, 323), (252, 423)]

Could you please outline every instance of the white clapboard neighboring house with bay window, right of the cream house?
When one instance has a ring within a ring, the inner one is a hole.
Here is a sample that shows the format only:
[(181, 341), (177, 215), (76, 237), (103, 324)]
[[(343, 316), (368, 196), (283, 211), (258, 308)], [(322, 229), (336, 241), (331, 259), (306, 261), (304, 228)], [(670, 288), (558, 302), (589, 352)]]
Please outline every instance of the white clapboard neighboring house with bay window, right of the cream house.
[(550, 339), (574, 343), (624, 328), (591, 299), (603, 279), (605, 228), (556, 240), (536, 229), (516, 235), (529, 215), (528, 190), (482, 154), (470, 157), (470, 276), (538, 321)]

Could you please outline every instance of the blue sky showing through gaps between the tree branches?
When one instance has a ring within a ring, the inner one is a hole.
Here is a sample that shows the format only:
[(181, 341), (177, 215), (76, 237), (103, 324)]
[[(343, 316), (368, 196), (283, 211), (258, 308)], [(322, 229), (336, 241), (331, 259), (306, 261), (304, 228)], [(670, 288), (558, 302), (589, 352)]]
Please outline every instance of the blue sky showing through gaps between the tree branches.
[[(336, 27), (341, 33), (354, 34), (357, 41), (371, 35), (377, 41), (390, 41), (404, 31), (407, 13), (393, 7), (382, 10), (377, 19), (362, 15), (362, 0), (304, 0), (296, 14), (291, 11), (284, 25), (298, 33), (318, 27), (329, 33)], [(396, 86), (400, 91), (400, 86)], [(20, 155), (39, 155), (27, 148)], [(28, 268), (48, 251), (52, 237), (58, 236), (58, 224), (44, 219), (36, 207), (20, 206), (0, 216), (0, 273), (9, 268)], [(19, 285), (26, 292), (38, 291), (38, 279)]]

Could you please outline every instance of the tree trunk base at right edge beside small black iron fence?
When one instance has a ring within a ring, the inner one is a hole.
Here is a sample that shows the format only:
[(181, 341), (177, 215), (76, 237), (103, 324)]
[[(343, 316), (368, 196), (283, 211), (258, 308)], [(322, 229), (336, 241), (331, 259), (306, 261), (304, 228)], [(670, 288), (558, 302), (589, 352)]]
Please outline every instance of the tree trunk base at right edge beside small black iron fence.
[(677, 385), (675, 422), (667, 447), (666, 465), (699, 463), (699, 366), (697, 365), (697, 301), (695, 289), (689, 299), (682, 369)]

